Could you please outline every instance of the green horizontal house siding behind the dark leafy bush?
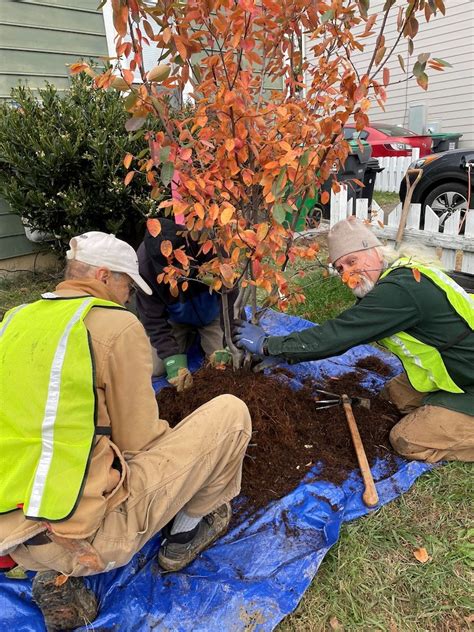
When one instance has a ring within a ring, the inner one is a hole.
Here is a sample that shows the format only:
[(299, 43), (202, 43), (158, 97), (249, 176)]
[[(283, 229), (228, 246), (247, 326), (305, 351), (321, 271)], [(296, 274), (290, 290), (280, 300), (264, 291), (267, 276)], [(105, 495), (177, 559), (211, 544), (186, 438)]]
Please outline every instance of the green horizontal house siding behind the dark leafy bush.
[[(0, 0), (0, 98), (12, 87), (49, 81), (65, 90), (67, 64), (106, 56), (98, 0)], [(37, 252), (17, 215), (0, 199), (0, 260)]]

